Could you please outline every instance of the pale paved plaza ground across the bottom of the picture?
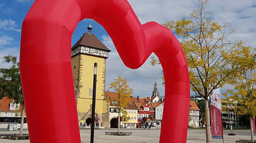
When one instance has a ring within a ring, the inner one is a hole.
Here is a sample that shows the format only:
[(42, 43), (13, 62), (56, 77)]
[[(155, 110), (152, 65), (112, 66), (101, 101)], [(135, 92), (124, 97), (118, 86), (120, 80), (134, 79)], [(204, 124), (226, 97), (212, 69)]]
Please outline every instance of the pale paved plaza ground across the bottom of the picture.
[[(160, 129), (121, 129), (124, 132), (132, 132), (131, 136), (112, 136), (105, 135), (105, 132), (113, 132), (116, 129), (97, 129), (95, 130), (95, 143), (158, 143)], [(0, 132), (18, 133), (18, 132)], [(25, 130), (24, 133), (28, 133)], [(235, 130), (236, 136), (228, 136), (228, 130), (224, 130), (224, 143), (235, 143), (238, 139), (250, 139), (249, 130)], [(90, 142), (90, 129), (81, 129), (81, 142)], [(29, 143), (29, 140), (8, 140), (0, 139), (0, 143)], [(189, 129), (187, 143), (206, 143), (205, 130)], [(222, 143), (221, 139), (212, 139), (212, 143)]]

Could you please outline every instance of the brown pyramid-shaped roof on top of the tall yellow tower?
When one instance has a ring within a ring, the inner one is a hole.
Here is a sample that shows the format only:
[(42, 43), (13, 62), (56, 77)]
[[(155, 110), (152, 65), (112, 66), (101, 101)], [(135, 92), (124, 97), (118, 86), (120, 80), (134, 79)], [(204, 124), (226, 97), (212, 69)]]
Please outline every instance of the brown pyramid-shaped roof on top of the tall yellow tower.
[(84, 33), (83, 36), (76, 42), (76, 44), (72, 46), (72, 49), (78, 45), (90, 46), (92, 48), (111, 51), (95, 36), (95, 34)]

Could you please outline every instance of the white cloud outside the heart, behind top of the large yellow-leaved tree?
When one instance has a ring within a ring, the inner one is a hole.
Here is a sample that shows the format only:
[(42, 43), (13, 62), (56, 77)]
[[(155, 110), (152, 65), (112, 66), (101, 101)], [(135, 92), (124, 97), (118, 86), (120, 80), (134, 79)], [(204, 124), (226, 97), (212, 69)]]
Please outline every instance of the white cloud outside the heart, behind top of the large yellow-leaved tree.
[[(187, 18), (200, 6), (198, 0), (128, 0), (142, 24), (156, 21), (160, 24), (177, 18)], [(256, 47), (256, 1), (255, 0), (209, 0), (206, 5), (209, 17), (219, 24), (228, 23), (228, 29), (237, 28), (230, 36), (245, 41), (246, 46)], [(180, 37), (178, 37), (181, 40)], [(149, 88), (149, 87), (148, 87)], [(223, 87), (223, 91), (233, 86)]]

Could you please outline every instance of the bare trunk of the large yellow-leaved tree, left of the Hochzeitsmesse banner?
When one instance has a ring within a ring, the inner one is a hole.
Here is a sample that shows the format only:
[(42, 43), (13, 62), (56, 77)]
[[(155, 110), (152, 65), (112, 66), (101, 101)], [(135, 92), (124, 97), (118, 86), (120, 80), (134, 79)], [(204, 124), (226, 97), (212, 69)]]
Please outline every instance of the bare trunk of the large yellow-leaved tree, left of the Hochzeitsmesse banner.
[(204, 99), (205, 104), (205, 123), (206, 123), (206, 143), (211, 143), (211, 132), (210, 132), (210, 111), (208, 105), (208, 99)]

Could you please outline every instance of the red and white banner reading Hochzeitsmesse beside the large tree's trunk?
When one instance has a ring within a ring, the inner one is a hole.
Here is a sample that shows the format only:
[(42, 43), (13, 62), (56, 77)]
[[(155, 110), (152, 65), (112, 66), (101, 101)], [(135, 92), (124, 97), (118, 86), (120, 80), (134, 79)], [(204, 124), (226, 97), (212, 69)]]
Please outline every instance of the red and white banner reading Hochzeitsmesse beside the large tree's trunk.
[(219, 89), (213, 90), (209, 98), (210, 98), (212, 138), (223, 139), (220, 90)]

